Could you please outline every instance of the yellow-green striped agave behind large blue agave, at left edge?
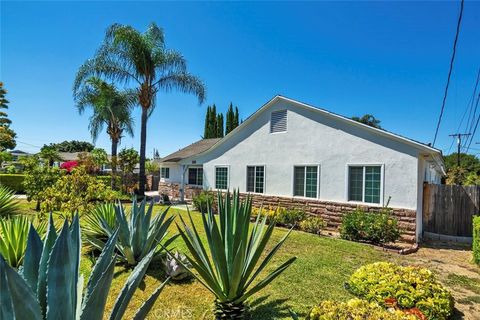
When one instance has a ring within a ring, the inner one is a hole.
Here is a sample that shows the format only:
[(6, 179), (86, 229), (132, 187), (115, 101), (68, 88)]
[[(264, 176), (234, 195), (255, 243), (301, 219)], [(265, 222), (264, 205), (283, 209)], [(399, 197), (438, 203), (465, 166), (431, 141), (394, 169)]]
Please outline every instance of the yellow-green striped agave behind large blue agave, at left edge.
[[(0, 219), (0, 254), (13, 268), (19, 268), (23, 262), (31, 220), (27, 216)], [(43, 236), (47, 222), (36, 221), (35, 225), (38, 233)]]

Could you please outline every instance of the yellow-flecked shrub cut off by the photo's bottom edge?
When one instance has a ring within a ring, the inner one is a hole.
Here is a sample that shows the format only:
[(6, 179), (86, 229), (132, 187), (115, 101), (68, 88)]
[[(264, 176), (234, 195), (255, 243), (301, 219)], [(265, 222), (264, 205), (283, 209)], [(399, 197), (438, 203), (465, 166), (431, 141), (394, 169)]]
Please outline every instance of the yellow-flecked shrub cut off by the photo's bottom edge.
[(308, 314), (307, 320), (417, 320), (399, 310), (385, 310), (375, 302), (351, 299), (348, 302), (322, 301)]

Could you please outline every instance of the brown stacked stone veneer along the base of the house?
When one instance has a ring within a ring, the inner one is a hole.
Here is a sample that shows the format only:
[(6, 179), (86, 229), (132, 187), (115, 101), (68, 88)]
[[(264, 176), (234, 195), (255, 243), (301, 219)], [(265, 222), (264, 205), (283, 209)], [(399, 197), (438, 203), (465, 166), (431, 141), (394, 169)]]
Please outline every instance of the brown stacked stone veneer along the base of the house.
[[(171, 199), (180, 197), (179, 185), (175, 183), (162, 183), (159, 185), (160, 193), (167, 194)], [(189, 202), (194, 195), (201, 192), (201, 188), (189, 185), (185, 186), (185, 200)], [(241, 198), (245, 198), (247, 194), (242, 193)], [(320, 216), (327, 223), (327, 229), (337, 230), (342, 223), (342, 215), (346, 212), (361, 208), (368, 212), (379, 212), (382, 208), (367, 205), (357, 205), (351, 203), (329, 202), (315, 199), (267, 196), (259, 194), (251, 194), (252, 205), (254, 207), (282, 207), (303, 209), (307, 213)], [(392, 209), (393, 216), (398, 220), (398, 226), (401, 229), (402, 240), (405, 242), (415, 242), (416, 229), (416, 211), (409, 209)]]

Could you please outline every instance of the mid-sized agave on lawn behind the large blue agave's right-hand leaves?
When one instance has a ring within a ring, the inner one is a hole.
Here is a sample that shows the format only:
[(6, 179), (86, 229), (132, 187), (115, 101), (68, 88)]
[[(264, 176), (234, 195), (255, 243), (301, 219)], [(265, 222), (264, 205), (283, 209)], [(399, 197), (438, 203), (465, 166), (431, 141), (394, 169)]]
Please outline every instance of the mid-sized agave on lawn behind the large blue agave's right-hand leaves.
[[(147, 209), (145, 200), (137, 205), (137, 200), (134, 199), (129, 216), (120, 203), (104, 205), (85, 219), (85, 228), (90, 230), (85, 234), (85, 239), (92, 246), (102, 249), (105, 237), (111, 237), (118, 227), (117, 249), (120, 259), (134, 266), (150, 251), (159, 253), (162, 249), (160, 243), (168, 247), (175, 240), (176, 235), (168, 238), (168, 228), (175, 219), (175, 216), (167, 218), (168, 209), (152, 218), (153, 202)], [(115, 223), (112, 215), (115, 216)]]

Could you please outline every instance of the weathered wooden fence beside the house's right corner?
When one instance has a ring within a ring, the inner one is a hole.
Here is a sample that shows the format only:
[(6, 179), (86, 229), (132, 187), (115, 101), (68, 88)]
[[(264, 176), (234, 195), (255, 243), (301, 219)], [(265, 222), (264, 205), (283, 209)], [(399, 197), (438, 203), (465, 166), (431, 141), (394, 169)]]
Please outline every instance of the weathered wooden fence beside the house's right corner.
[(479, 214), (480, 186), (425, 184), (423, 231), (452, 237), (472, 236), (472, 217)]

